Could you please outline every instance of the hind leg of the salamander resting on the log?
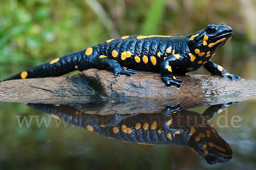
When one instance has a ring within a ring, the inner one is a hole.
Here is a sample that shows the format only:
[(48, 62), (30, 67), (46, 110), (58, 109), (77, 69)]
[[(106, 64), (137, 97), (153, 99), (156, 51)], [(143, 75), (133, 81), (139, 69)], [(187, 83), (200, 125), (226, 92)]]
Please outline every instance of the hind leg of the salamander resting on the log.
[(138, 74), (132, 69), (127, 69), (117, 63), (115, 60), (107, 58), (105, 55), (99, 55), (96, 57), (96, 65), (97, 69), (105, 69), (114, 73), (115, 76), (117, 75), (134, 75)]

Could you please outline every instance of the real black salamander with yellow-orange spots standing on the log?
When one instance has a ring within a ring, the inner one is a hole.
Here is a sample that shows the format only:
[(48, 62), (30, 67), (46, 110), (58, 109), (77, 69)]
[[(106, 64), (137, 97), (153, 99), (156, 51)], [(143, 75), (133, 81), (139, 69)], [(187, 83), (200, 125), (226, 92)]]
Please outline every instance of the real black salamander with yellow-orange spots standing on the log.
[(6, 80), (55, 77), (76, 69), (97, 68), (109, 70), (116, 76), (138, 74), (134, 70), (160, 72), (166, 86), (180, 87), (182, 81), (174, 75), (185, 75), (202, 66), (213, 75), (240, 80), (211, 61), (232, 35), (231, 27), (224, 24), (210, 24), (188, 36), (128, 35), (56, 58)]

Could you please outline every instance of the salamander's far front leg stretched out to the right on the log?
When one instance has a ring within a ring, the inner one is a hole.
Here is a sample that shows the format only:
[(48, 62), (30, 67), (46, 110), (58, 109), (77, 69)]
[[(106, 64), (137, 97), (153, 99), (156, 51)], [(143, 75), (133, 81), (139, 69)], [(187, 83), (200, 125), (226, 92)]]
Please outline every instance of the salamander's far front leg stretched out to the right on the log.
[(231, 80), (241, 80), (239, 76), (228, 73), (222, 66), (213, 63), (211, 60), (209, 60), (204, 65), (204, 68), (207, 69), (207, 71), (212, 73), (213, 75), (218, 75), (223, 78), (230, 78)]

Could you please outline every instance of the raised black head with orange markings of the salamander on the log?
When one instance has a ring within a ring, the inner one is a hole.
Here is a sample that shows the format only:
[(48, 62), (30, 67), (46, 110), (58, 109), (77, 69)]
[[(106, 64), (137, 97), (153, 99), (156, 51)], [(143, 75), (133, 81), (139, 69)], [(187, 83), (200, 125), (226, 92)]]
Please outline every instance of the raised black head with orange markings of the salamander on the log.
[(206, 29), (188, 36), (188, 46), (193, 55), (212, 57), (212, 54), (227, 43), (232, 35), (230, 26), (209, 24)]

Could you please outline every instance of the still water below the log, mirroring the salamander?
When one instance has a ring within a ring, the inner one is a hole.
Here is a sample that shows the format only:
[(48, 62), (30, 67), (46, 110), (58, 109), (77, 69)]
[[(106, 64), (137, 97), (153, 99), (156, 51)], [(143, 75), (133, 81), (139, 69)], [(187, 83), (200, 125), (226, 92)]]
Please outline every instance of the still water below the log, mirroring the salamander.
[(0, 163), (14, 169), (255, 169), (255, 102), (170, 104), (154, 113), (131, 102), (134, 114), (111, 112), (109, 106), (119, 104), (109, 103), (1, 102)]

